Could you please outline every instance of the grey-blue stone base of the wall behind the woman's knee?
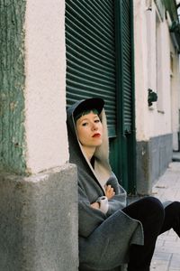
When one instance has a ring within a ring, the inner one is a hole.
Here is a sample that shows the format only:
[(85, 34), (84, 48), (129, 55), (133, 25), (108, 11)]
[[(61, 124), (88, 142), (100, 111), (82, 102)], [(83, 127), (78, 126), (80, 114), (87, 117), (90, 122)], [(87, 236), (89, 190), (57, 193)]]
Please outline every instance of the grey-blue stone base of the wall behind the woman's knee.
[(137, 192), (148, 195), (152, 185), (172, 161), (172, 134), (137, 143)]

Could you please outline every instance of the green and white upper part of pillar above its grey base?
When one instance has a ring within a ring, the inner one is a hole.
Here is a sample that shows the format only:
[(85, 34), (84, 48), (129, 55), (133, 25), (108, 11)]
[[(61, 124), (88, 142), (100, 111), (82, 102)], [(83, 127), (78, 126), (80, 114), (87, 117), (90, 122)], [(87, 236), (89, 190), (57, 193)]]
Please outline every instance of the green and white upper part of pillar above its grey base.
[(68, 160), (65, 1), (1, 1), (0, 170)]

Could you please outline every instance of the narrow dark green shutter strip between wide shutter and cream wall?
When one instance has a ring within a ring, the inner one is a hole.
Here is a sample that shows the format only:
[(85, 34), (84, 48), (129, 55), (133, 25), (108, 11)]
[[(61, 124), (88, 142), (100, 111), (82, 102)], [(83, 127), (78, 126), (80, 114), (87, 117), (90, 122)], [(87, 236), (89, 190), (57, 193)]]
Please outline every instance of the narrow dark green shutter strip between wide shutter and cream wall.
[[(118, 164), (115, 173), (129, 193), (136, 191), (136, 140), (134, 98), (134, 54), (133, 54), (133, 1), (115, 0), (116, 25), (116, 86), (117, 86), (117, 138), (111, 141)], [(128, 9), (124, 12), (124, 7)], [(124, 14), (128, 14), (127, 17)], [(129, 21), (127, 21), (129, 20)], [(127, 25), (129, 25), (127, 27)], [(124, 31), (124, 29), (126, 29)], [(127, 48), (130, 45), (128, 54)], [(127, 66), (127, 61), (129, 65)], [(130, 69), (128, 68), (130, 67)], [(128, 80), (127, 80), (128, 78)], [(127, 88), (130, 84), (130, 88)], [(128, 99), (127, 99), (128, 97)], [(129, 107), (130, 105), (130, 107)], [(113, 162), (114, 154), (111, 154)]]

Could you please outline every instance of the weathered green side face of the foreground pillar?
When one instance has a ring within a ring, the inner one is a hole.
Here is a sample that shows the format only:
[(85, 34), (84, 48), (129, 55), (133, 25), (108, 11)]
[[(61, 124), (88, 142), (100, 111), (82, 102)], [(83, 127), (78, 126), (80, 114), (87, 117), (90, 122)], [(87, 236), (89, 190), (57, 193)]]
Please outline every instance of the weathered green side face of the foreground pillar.
[(23, 0), (1, 1), (0, 171), (25, 172)]

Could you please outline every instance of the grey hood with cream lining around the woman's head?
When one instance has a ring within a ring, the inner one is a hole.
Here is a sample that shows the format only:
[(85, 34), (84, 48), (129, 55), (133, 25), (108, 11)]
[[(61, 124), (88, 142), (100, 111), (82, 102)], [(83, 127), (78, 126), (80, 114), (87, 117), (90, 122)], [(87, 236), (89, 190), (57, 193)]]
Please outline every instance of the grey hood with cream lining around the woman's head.
[(103, 109), (100, 114), (103, 124), (103, 143), (95, 149), (93, 167), (83, 152), (82, 145), (80, 144), (76, 135), (74, 112), (76, 107), (78, 107), (83, 101), (85, 100), (80, 100), (67, 108), (67, 134), (70, 155), (69, 162), (76, 164), (77, 168), (84, 168), (96, 179), (97, 182), (100, 183), (104, 190), (104, 185), (112, 174), (111, 166), (109, 164), (109, 139), (106, 116)]

